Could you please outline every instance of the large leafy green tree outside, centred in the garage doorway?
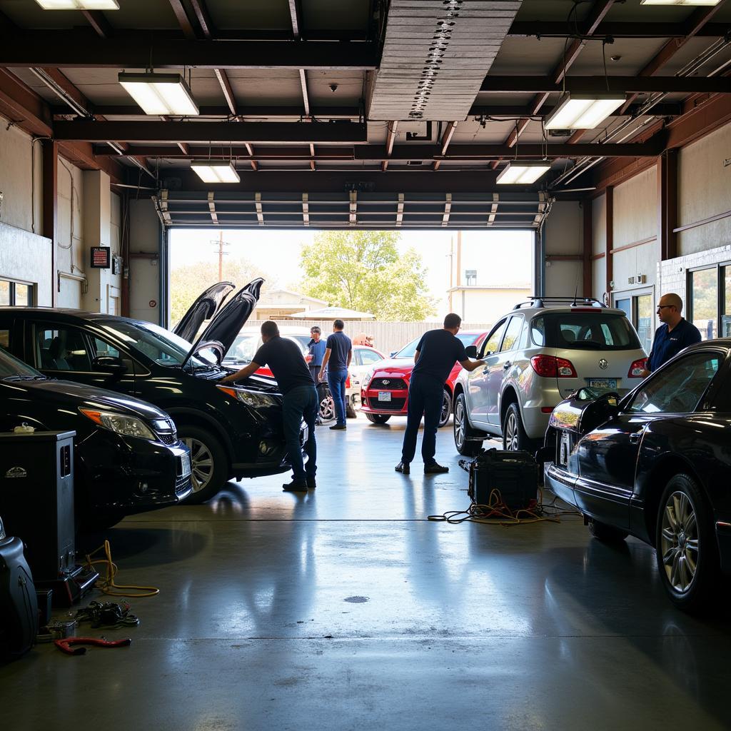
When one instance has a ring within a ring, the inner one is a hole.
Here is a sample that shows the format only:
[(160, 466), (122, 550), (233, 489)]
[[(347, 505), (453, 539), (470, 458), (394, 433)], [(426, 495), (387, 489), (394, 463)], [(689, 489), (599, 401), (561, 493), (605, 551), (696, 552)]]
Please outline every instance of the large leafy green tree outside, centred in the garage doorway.
[(325, 231), (303, 246), (303, 292), (333, 306), (372, 312), (381, 320), (434, 314), (426, 268), (414, 249), (399, 253), (395, 231)]

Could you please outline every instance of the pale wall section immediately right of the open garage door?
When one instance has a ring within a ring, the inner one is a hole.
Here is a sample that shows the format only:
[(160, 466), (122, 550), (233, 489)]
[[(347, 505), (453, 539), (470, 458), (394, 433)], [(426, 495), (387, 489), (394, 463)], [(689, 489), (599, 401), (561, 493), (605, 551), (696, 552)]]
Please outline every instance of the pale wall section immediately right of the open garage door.
[[(553, 204), (545, 222), (543, 240), (545, 253), (554, 255), (583, 255), (583, 210), (576, 201)], [(547, 296), (571, 296), (583, 289), (583, 262), (547, 261), (545, 268)]]

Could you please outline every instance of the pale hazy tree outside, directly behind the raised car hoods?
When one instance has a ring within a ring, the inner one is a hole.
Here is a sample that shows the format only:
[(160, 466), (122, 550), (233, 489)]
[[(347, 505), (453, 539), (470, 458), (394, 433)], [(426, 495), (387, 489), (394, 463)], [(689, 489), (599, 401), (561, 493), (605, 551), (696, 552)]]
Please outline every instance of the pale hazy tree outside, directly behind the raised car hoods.
[[(236, 289), (248, 284), (258, 276), (264, 279), (262, 292), (276, 287), (265, 272), (245, 259), (226, 259), (223, 265), (224, 281), (232, 281)], [(170, 322), (174, 325), (186, 313), (195, 298), (211, 284), (219, 280), (218, 262), (195, 262), (176, 267), (170, 272)]]

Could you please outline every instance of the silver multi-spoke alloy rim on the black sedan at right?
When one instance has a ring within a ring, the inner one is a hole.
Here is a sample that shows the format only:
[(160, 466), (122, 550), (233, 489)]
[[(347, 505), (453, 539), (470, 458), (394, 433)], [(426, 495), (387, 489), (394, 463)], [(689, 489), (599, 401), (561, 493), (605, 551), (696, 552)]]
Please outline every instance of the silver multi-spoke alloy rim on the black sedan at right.
[(662, 511), (660, 539), (665, 575), (675, 591), (684, 594), (692, 586), (698, 567), (698, 523), (686, 493), (671, 493)]

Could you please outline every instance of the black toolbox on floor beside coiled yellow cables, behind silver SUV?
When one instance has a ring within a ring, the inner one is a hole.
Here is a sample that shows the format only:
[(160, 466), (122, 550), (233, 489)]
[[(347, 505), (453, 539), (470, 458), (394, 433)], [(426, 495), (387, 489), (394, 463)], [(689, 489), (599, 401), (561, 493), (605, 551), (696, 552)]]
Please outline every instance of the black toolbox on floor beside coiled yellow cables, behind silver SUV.
[(527, 508), (537, 498), (538, 465), (530, 452), (486, 450), (459, 465), (469, 473), (467, 493), (473, 503), (491, 504), (493, 490), (510, 510)]

